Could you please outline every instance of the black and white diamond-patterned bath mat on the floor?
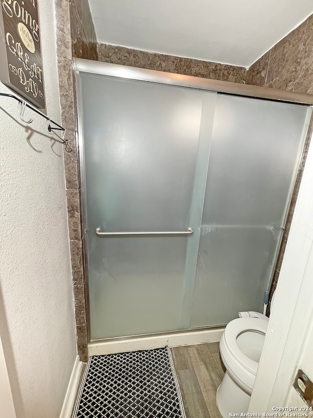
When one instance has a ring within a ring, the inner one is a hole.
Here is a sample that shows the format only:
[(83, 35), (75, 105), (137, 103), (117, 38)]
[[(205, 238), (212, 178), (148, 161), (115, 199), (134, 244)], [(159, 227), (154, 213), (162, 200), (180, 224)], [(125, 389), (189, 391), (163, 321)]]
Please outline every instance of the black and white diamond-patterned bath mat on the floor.
[(73, 418), (185, 418), (169, 348), (89, 358)]

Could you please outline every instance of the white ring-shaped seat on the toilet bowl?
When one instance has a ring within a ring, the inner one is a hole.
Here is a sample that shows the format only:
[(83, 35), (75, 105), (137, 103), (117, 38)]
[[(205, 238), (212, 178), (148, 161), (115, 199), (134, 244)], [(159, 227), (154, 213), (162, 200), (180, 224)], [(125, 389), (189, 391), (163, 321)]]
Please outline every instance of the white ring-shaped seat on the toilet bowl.
[(237, 337), (244, 331), (257, 331), (265, 334), (268, 321), (260, 318), (238, 318), (230, 321), (224, 331), (225, 344), (228, 350), (245, 369), (256, 374), (259, 363), (250, 359), (237, 345)]

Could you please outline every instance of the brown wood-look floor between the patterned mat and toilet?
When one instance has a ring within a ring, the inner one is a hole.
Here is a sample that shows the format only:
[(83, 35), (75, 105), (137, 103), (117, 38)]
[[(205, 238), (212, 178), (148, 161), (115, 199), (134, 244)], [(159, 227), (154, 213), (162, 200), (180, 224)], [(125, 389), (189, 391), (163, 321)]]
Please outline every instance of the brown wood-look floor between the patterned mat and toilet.
[(219, 343), (171, 348), (187, 418), (221, 418), (216, 391), (224, 377)]

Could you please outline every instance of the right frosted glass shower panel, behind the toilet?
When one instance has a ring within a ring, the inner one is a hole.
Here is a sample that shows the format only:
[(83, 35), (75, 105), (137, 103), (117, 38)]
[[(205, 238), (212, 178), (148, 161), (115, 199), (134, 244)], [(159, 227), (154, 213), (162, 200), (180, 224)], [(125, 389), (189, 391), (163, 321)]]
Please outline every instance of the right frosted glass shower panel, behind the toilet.
[(307, 112), (218, 95), (190, 327), (262, 310)]

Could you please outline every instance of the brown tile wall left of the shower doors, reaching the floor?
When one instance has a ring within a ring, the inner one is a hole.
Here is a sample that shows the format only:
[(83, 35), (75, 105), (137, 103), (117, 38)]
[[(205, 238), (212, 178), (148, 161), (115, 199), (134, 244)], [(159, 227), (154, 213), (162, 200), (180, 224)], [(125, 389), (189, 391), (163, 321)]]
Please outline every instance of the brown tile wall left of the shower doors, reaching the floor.
[[(86, 288), (83, 275), (80, 184), (77, 169), (76, 109), (72, 57), (98, 58), (97, 42), (87, 0), (56, 0), (57, 57), (62, 124), (69, 143), (64, 152), (67, 188), (67, 217), (71, 251), (77, 349), (87, 361), (88, 328)], [(68, 152), (70, 151), (70, 152)]]

